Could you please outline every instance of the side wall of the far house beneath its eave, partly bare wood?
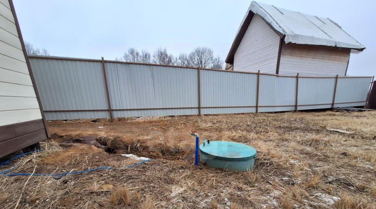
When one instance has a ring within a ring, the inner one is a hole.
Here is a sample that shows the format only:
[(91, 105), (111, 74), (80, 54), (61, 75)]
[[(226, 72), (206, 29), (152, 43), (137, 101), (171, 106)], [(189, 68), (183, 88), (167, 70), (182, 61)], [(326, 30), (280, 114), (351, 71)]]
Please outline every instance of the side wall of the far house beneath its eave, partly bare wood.
[(283, 44), (279, 75), (344, 76), (349, 57), (347, 49)]

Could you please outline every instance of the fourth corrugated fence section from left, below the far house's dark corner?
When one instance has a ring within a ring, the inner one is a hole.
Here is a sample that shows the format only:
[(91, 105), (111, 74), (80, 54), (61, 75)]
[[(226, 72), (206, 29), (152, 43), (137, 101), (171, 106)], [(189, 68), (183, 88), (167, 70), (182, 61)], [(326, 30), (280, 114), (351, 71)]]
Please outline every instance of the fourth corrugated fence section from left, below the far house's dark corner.
[[(296, 78), (260, 75), (259, 106), (295, 105)], [(295, 107), (259, 107), (259, 112), (289, 111)]]

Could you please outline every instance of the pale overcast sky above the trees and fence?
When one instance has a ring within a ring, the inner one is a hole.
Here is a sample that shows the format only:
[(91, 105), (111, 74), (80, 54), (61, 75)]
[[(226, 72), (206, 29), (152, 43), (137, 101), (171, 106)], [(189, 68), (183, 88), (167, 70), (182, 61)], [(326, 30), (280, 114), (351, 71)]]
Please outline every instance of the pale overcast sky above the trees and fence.
[[(348, 75), (376, 75), (376, 1), (259, 0), (336, 21), (367, 49), (351, 54)], [(105, 3), (105, 4), (103, 4)], [(250, 0), (14, 0), (25, 41), (54, 56), (115, 59), (129, 47), (174, 55), (197, 46), (223, 60)]]

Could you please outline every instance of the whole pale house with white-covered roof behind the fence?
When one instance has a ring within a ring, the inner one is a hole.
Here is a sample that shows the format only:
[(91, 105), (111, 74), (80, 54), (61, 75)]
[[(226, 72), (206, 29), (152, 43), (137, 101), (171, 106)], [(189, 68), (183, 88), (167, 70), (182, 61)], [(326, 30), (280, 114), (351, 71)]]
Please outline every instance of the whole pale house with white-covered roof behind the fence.
[(351, 50), (364, 49), (329, 18), (252, 2), (226, 67), (279, 75), (346, 76)]

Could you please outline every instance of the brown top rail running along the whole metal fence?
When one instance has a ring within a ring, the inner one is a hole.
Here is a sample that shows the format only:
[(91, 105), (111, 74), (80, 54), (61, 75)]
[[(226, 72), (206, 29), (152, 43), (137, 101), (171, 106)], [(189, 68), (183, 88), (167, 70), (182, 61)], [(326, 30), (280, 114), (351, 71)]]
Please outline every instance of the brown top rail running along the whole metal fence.
[[(102, 62), (102, 59), (86, 59), (86, 58), (72, 58), (72, 57), (63, 57), (63, 56), (42, 56), (42, 55), (28, 55), (29, 58), (37, 58), (37, 59), (60, 59), (60, 60), (70, 60), (70, 61), (90, 61), (90, 62)], [(139, 65), (149, 65), (149, 66), (162, 66), (162, 67), (179, 67), (179, 68), (189, 68), (189, 69), (198, 69), (197, 67), (186, 67), (186, 66), (175, 66), (175, 65), (162, 65), (162, 64), (154, 64), (154, 63), (132, 63), (132, 62), (124, 62), (124, 61), (115, 61), (115, 60), (104, 60), (105, 63), (123, 63), (123, 64), (139, 64)], [(210, 69), (210, 68), (201, 68), (201, 70), (212, 70), (212, 71), (220, 71), (220, 72), (230, 72), (230, 73), (246, 73), (246, 74), (255, 74), (257, 75), (258, 72), (243, 72), (243, 71), (235, 71), (235, 70), (218, 70), (218, 69)], [(296, 78), (296, 75), (276, 75), (270, 73), (260, 73), (260, 75), (271, 75), (276, 77), (287, 77), (287, 78)], [(337, 78), (336, 76), (299, 76), (299, 78)], [(372, 76), (338, 76), (338, 78), (372, 78)]]

